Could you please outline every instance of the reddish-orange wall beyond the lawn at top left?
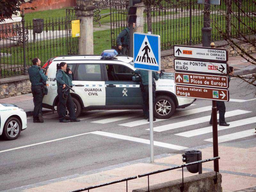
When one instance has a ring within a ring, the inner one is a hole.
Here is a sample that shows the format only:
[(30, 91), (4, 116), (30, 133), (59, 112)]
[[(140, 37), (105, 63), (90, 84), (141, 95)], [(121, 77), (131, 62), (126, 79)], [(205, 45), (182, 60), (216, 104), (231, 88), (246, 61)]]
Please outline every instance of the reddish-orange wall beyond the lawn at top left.
[[(61, 9), (64, 7), (73, 7), (76, 5), (76, 0), (34, 0), (33, 3), (24, 3), (20, 8), (37, 7), (35, 11), (45, 11), (52, 9)], [(35, 12), (33, 10), (25, 10), (25, 13)]]

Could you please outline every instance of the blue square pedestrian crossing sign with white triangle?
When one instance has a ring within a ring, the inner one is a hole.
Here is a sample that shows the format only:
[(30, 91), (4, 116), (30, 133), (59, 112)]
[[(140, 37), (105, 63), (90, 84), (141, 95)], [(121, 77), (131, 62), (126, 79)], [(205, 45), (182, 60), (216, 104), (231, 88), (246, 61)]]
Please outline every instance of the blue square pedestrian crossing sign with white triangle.
[(134, 68), (161, 70), (160, 36), (133, 33)]

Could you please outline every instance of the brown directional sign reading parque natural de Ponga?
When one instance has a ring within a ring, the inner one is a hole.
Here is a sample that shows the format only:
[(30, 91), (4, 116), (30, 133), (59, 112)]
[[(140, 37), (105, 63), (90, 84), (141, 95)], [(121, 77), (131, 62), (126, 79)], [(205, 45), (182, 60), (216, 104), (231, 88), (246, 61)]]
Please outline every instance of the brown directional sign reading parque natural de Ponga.
[(175, 85), (175, 95), (177, 97), (187, 97), (206, 100), (228, 101), (228, 89), (206, 88), (188, 85)]

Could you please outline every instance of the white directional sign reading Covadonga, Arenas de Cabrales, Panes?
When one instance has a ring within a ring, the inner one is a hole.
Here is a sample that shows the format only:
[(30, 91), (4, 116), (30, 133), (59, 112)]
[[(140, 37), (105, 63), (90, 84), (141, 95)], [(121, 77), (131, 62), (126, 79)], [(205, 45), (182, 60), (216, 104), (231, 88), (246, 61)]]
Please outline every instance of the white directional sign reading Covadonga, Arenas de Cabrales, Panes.
[(228, 51), (226, 49), (195, 47), (185, 45), (174, 45), (174, 57), (185, 57), (190, 59), (203, 59), (214, 61), (228, 61)]

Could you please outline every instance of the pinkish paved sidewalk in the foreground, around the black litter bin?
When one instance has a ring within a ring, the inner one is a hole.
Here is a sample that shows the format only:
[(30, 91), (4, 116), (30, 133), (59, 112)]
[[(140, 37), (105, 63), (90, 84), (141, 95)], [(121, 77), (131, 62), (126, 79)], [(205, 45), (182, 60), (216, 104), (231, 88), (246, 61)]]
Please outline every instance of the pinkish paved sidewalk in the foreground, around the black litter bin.
[[(148, 148), (149, 150), (149, 148)], [(188, 149), (195, 150), (195, 149)], [(196, 150), (202, 151), (202, 159), (213, 157), (212, 145), (202, 146)], [(99, 185), (139, 174), (170, 168), (182, 164), (181, 154), (162, 154), (155, 156), (155, 163), (149, 158), (117, 164), (97, 170), (83, 172), (67, 177), (48, 180), (20, 188), (10, 189), (8, 192), (68, 192), (89, 186)], [(219, 144), (219, 167), (222, 175), (223, 192), (256, 191), (256, 139)], [(110, 162), (111, 164), (111, 162)], [(213, 171), (213, 162), (202, 164), (203, 173)], [(194, 175), (184, 169), (184, 177)], [(155, 185), (169, 180), (182, 178), (181, 169), (162, 172), (149, 177), (149, 185)], [(147, 187), (148, 178), (142, 177), (128, 181), (128, 191)], [(126, 191), (126, 182), (116, 183), (96, 189), (92, 192), (120, 192)], [(7, 191), (5, 191), (7, 192)]]

